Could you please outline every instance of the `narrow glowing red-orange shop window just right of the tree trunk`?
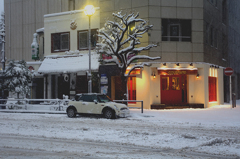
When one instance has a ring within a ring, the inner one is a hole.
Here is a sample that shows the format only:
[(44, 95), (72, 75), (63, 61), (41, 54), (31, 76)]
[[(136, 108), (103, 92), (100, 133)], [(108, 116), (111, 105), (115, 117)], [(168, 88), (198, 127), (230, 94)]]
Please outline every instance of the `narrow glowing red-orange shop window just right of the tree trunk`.
[[(136, 100), (136, 77), (128, 77), (128, 100)], [(136, 103), (136, 102), (129, 102)]]

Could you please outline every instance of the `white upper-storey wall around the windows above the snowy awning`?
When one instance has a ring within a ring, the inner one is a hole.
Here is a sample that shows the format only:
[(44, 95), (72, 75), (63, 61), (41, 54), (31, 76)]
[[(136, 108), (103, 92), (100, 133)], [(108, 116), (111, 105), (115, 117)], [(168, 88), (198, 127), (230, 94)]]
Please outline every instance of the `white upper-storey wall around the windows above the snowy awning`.
[[(75, 30), (70, 29), (70, 23), (75, 21), (77, 28)], [(45, 39), (45, 56), (47, 55), (61, 55), (65, 52), (51, 53), (51, 34), (60, 32), (70, 32), (70, 50), (78, 50), (78, 34), (80, 30), (88, 30), (89, 18), (84, 14), (83, 10), (79, 12), (65, 12), (63, 15), (50, 14), (45, 15), (44, 19), (44, 39)], [(100, 28), (100, 12), (96, 10), (91, 17), (91, 29)]]

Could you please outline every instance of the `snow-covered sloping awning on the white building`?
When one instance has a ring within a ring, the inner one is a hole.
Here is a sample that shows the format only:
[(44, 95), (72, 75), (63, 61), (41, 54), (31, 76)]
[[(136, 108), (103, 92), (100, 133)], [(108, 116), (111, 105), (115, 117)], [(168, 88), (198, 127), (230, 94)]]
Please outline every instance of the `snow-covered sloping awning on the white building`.
[[(97, 71), (99, 67), (99, 55), (91, 54), (91, 70)], [(77, 56), (47, 56), (38, 73), (76, 73), (89, 70), (89, 56), (88, 54), (81, 54)]]

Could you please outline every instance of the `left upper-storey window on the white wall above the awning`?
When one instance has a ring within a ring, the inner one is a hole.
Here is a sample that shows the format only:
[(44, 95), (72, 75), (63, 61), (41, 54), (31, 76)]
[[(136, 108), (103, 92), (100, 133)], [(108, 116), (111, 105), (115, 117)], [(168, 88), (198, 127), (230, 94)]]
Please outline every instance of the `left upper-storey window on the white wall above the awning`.
[(70, 43), (70, 33), (53, 33), (51, 34), (52, 39), (52, 52), (62, 52), (62, 51), (68, 51), (69, 43)]

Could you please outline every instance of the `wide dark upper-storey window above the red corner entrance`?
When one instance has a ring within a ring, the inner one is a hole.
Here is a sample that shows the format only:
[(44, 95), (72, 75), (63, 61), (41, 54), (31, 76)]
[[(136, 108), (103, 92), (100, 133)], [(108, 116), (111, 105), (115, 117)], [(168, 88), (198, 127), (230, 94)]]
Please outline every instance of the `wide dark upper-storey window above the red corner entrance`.
[(191, 20), (162, 19), (162, 41), (191, 41)]

